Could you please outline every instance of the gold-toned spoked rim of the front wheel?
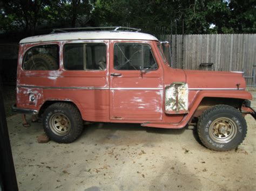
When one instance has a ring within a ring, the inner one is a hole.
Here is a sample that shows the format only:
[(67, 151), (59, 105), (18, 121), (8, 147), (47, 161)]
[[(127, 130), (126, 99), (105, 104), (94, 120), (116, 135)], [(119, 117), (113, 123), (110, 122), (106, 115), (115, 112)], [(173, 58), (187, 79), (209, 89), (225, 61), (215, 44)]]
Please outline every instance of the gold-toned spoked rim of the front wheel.
[(237, 135), (237, 124), (229, 118), (215, 119), (210, 126), (210, 137), (218, 143), (228, 143)]

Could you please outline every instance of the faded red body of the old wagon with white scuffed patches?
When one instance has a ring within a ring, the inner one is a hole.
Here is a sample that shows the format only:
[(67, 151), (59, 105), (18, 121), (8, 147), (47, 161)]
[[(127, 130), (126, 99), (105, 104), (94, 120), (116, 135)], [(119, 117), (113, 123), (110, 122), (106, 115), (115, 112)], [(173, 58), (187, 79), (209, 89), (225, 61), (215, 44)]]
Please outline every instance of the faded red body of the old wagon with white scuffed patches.
[[(245, 100), (252, 100), (252, 95), (245, 90), (246, 83), (241, 73), (171, 68), (160, 52), (157, 39), (132, 39), (125, 36), (125, 33), (129, 32), (123, 33), (123, 39), (79, 38), (21, 42), (17, 69), (17, 99), (14, 109), (40, 116), (52, 103), (70, 102), (76, 105), (83, 121), (140, 123), (142, 126), (170, 129), (183, 128), (194, 117), (199, 117), (207, 108), (216, 104), (232, 105), (244, 114), (254, 114), (251, 108), (244, 105)], [(106, 68), (66, 70), (63, 66), (64, 46), (73, 43), (105, 44)], [(114, 45), (117, 43), (139, 43), (150, 46), (158, 68), (115, 69)], [(25, 53), (38, 45), (58, 46), (58, 69), (23, 69)], [(178, 92), (180, 84), (186, 84), (183, 87), (184, 95), (187, 96), (184, 98), (186, 109), (177, 109), (179, 98), (176, 97), (174, 103), (171, 103), (172, 106), (177, 104), (176, 109), (167, 111), (167, 87), (171, 86)]]

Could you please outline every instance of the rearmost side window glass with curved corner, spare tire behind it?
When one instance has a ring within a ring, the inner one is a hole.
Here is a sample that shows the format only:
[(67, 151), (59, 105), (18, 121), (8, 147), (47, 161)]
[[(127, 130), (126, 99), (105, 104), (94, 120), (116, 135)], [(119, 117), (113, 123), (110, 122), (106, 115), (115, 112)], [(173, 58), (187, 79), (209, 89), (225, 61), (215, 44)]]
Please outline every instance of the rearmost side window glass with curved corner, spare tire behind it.
[(30, 48), (24, 56), (24, 70), (56, 70), (58, 68), (58, 45), (35, 46)]

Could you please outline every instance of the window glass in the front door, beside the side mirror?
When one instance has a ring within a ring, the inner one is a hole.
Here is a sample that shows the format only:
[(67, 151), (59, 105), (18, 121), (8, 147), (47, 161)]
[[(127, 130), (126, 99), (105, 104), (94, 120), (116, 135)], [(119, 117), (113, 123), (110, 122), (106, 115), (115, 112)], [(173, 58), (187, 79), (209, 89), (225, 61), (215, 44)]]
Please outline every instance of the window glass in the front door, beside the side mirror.
[(146, 44), (114, 44), (114, 69), (117, 70), (156, 70), (157, 62)]

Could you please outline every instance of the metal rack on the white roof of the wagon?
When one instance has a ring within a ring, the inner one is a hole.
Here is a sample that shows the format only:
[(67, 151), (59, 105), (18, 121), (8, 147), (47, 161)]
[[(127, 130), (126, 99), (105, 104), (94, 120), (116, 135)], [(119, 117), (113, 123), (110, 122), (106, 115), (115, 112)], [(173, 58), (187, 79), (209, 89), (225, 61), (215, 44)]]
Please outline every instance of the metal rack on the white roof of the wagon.
[[(123, 30), (122, 30), (123, 29)], [(53, 29), (51, 33), (62, 33), (62, 32), (78, 32), (78, 31), (128, 31), (128, 32), (139, 32), (141, 29), (124, 26), (105, 26), (105, 27), (78, 27), (78, 28), (64, 28), (64, 29)]]

